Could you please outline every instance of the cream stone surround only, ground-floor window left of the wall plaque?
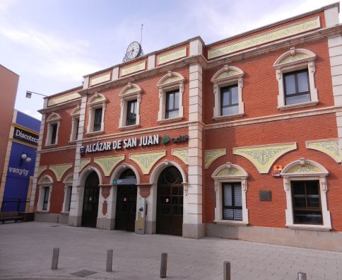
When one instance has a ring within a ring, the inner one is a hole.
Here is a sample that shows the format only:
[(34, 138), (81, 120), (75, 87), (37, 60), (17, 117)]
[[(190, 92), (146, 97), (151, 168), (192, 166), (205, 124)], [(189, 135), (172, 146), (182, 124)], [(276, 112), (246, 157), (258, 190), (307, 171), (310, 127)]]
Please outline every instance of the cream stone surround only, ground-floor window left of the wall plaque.
[[(222, 175), (227, 170), (226, 175)], [(247, 226), (249, 223), (248, 209), (246, 201), (247, 192), (247, 177), (248, 173), (239, 165), (232, 163), (225, 163), (218, 167), (211, 177), (214, 180), (215, 192), (216, 192), (216, 207), (215, 207), (215, 220), (214, 223), (234, 226)], [(222, 185), (225, 182), (240, 182), (242, 192), (242, 221), (237, 220), (223, 220), (223, 190)]]

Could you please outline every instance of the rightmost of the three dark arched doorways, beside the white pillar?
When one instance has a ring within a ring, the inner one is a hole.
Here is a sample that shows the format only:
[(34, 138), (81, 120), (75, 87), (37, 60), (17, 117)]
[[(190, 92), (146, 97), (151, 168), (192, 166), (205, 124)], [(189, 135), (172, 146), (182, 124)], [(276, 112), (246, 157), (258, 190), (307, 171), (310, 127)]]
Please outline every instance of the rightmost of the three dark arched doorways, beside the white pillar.
[(182, 235), (183, 184), (175, 166), (165, 168), (158, 178), (156, 232)]

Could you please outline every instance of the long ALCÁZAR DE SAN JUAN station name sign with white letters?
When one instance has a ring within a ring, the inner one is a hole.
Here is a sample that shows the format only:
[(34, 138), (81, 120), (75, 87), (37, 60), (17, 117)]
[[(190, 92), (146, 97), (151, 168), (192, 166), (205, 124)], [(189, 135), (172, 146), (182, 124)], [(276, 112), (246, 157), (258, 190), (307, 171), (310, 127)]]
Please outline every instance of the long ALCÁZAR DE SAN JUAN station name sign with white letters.
[(85, 153), (94, 153), (99, 151), (110, 151), (110, 150), (121, 150), (122, 148), (133, 148), (139, 146), (152, 146), (162, 144), (165, 145), (167, 143), (179, 143), (184, 142), (189, 139), (187, 135), (180, 135), (178, 137), (169, 137), (164, 135), (161, 137), (158, 134), (148, 135), (148, 136), (141, 136), (138, 137), (131, 137), (125, 139), (119, 139), (114, 141), (107, 141), (102, 142), (98, 141), (94, 144), (88, 144), (86, 146), (81, 146), (80, 153), (84, 155)]

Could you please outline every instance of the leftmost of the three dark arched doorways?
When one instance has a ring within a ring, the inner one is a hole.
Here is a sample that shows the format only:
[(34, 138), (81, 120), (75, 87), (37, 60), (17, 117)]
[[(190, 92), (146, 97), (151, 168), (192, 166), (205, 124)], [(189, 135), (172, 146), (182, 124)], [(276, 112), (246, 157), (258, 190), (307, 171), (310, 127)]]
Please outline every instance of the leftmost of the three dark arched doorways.
[(98, 199), (100, 187), (98, 174), (93, 171), (84, 184), (83, 210), (81, 226), (96, 228), (98, 220)]

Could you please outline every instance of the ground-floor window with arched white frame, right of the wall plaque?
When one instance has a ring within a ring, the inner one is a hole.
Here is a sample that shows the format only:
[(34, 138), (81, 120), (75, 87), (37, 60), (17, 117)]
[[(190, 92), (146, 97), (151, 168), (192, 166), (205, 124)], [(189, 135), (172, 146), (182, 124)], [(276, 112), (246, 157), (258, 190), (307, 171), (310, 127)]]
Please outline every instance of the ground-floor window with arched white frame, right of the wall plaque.
[(287, 204), (285, 226), (314, 231), (331, 230), (326, 202), (328, 174), (322, 165), (305, 158), (285, 166), (281, 171)]

